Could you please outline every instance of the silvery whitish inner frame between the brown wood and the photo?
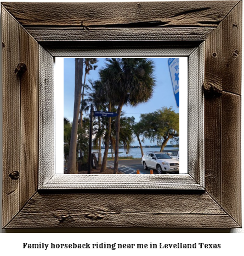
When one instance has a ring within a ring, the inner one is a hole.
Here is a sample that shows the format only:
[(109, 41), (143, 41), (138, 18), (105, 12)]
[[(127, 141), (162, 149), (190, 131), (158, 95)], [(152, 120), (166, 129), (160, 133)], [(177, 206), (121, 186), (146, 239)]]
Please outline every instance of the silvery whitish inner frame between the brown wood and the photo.
[(54, 59), (39, 46), (38, 189), (192, 189), (204, 190), (204, 50), (116, 49), (67, 52), (65, 56), (188, 57), (188, 173), (179, 175), (64, 175), (55, 173)]

